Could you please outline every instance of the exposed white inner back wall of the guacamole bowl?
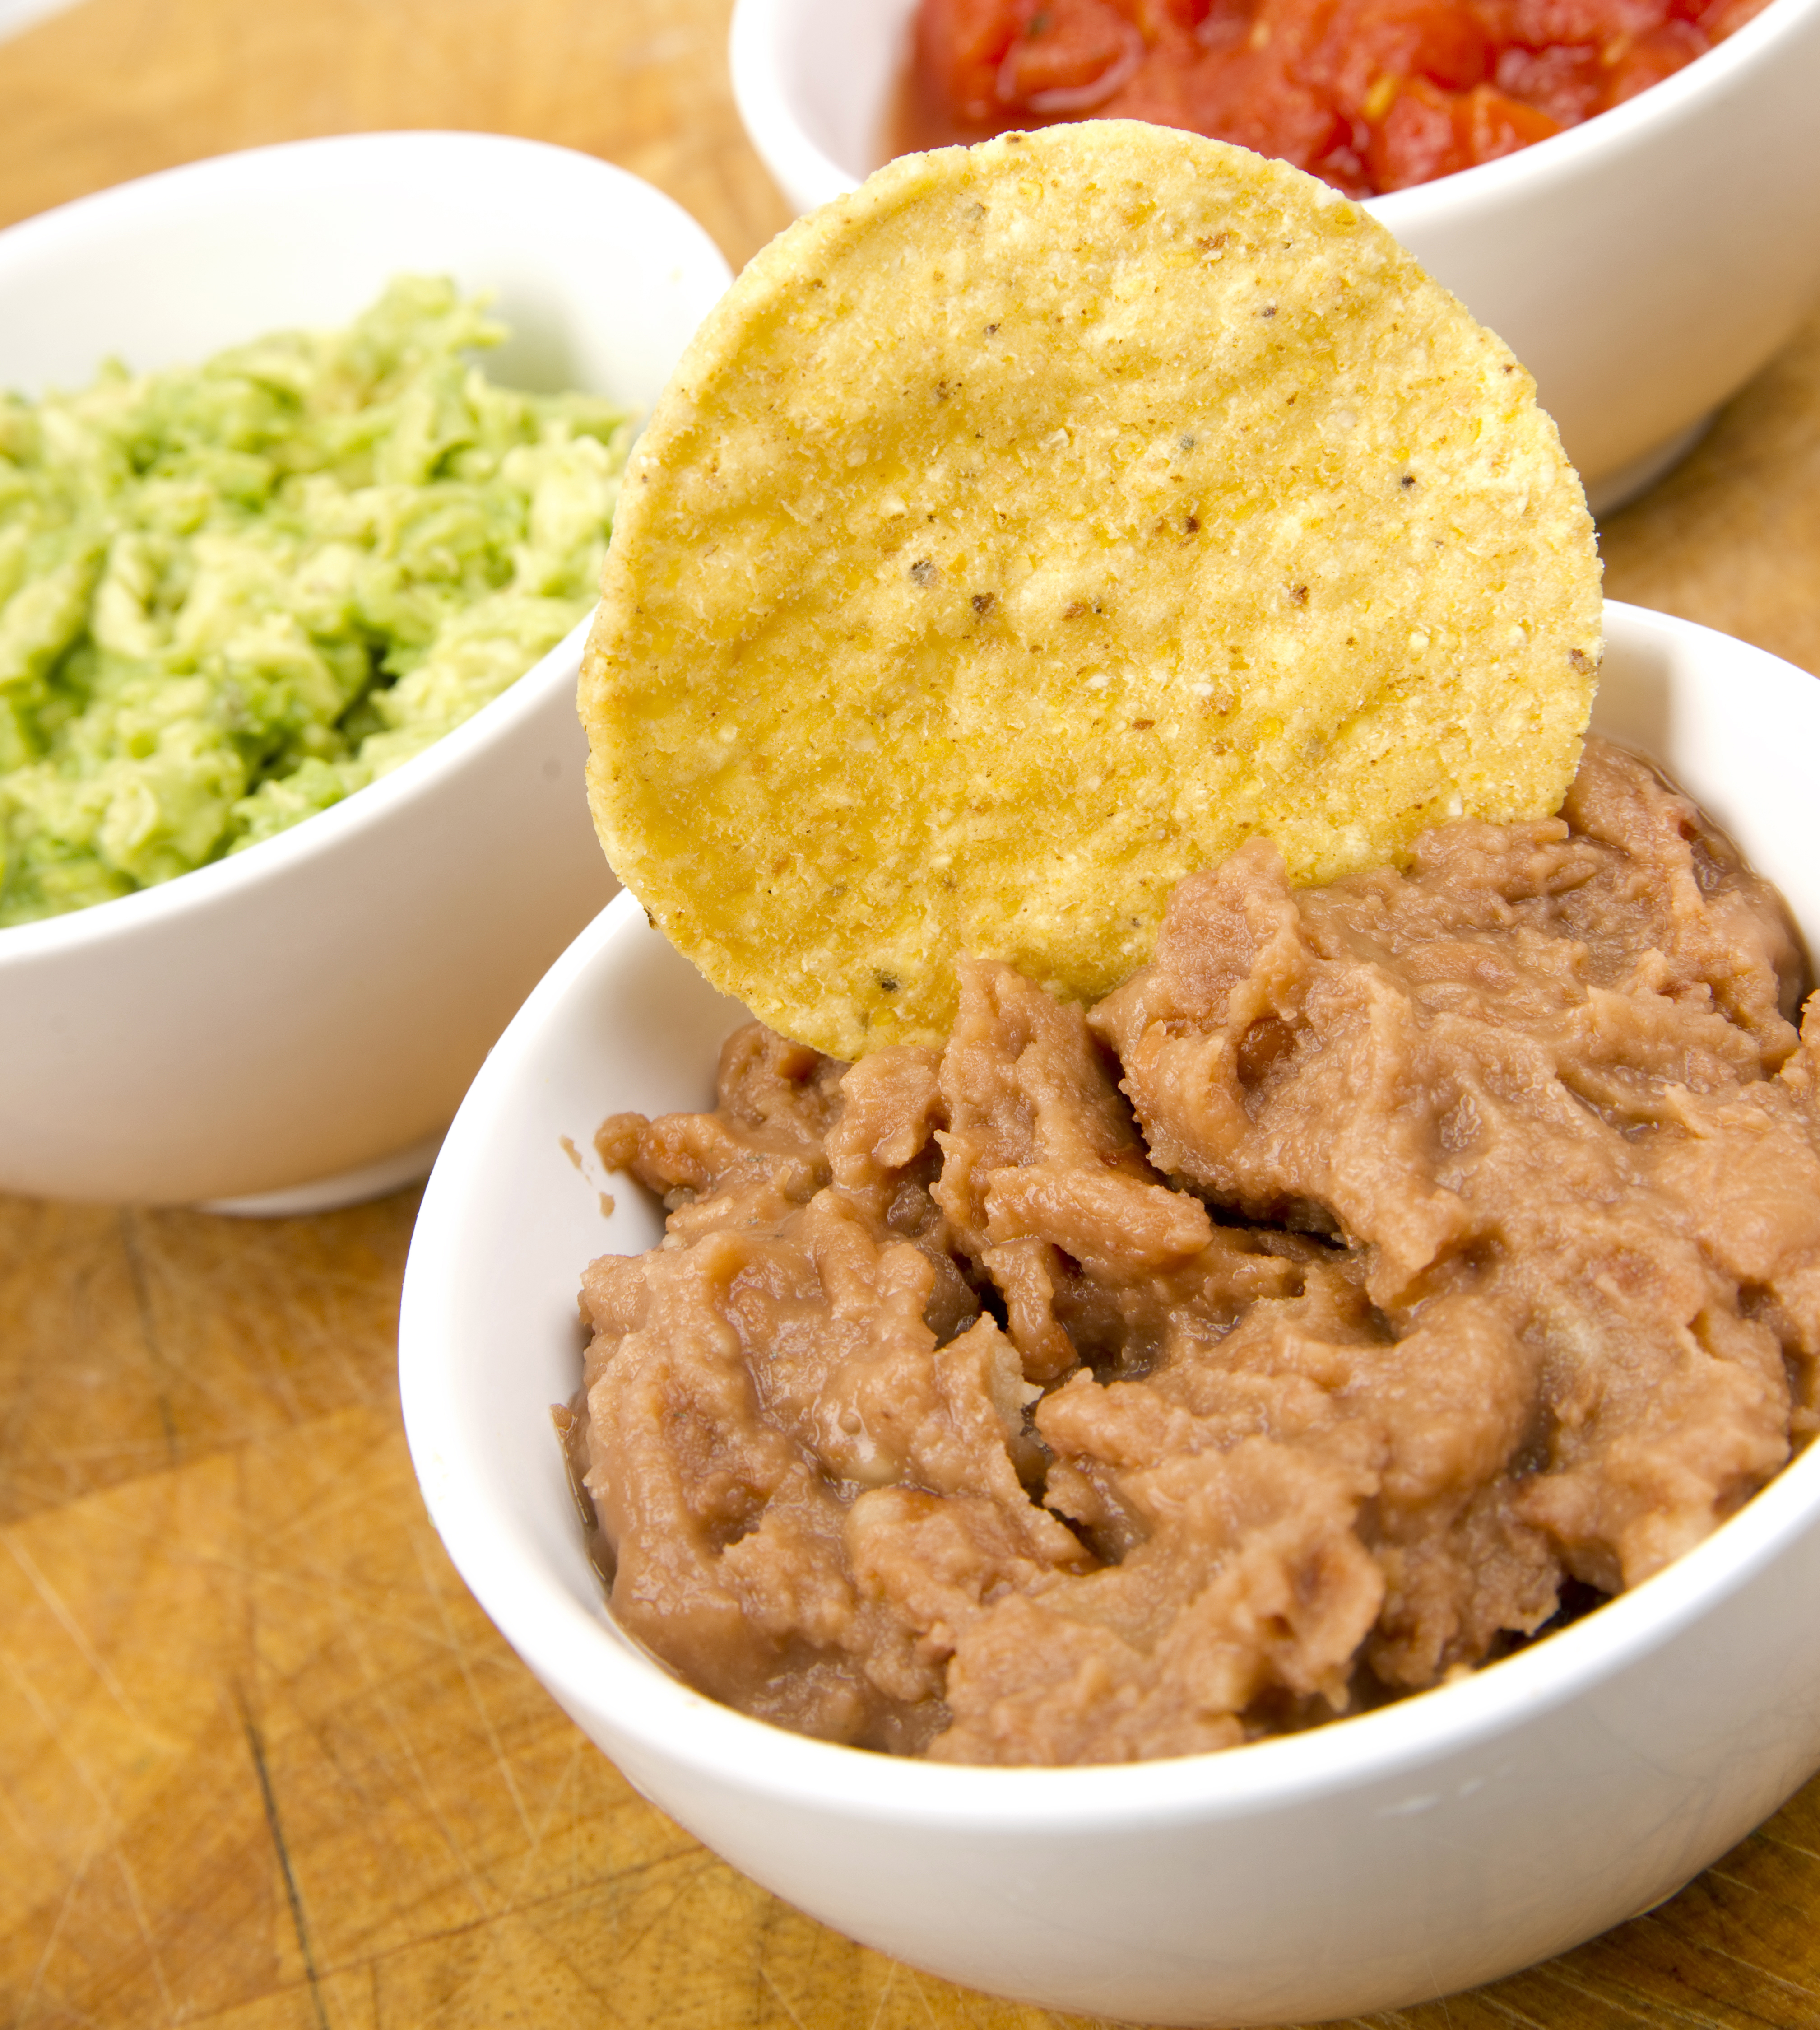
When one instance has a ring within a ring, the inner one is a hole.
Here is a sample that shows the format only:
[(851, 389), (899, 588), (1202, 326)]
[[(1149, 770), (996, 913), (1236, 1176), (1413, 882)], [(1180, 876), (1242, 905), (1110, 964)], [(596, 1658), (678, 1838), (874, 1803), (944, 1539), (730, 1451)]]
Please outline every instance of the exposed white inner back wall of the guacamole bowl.
[(592, 156), (499, 134), (290, 142), (0, 233), (0, 384), (79, 388), (108, 357), (158, 367), (333, 327), (400, 272), (493, 292), (513, 329), (493, 378), (635, 408), (726, 280), (682, 207)]

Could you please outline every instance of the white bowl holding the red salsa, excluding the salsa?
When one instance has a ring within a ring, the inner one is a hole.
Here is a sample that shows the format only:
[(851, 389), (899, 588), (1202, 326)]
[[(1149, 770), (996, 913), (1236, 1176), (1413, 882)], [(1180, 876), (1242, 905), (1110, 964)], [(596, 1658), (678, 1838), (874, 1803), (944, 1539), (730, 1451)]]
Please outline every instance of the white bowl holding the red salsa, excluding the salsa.
[[(737, 0), (732, 91), (799, 209), (885, 158), (915, 0)], [(1820, 292), (1820, 0), (1773, 0), (1585, 126), (1366, 205), (1536, 376), (1595, 514), (1641, 491)]]

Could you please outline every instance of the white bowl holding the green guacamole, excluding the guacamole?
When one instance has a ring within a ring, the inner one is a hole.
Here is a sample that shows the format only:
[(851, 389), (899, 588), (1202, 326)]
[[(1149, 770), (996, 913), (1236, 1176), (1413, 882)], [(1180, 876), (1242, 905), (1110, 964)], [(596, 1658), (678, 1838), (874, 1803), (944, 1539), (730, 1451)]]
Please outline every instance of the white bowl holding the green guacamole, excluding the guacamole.
[[(292, 142), (0, 233), (0, 386), (345, 323), (406, 270), (495, 292), (499, 380), (631, 408), (728, 280), (686, 211), (566, 148)], [(615, 887), (582, 792), (580, 635), (294, 830), (0, 930), (0, 1190), (290, 1210), (422, 1175), (487, 1045)]]

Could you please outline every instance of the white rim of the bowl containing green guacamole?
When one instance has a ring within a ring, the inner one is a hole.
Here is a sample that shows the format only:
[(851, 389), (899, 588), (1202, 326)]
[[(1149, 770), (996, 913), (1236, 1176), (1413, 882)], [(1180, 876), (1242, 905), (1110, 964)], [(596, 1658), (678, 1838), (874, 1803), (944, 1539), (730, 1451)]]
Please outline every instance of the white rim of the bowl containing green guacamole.
[[(181, 195), (197, 187), (231, 187), (235, 195), (246, 195), (248, 181), (258, 179), (270, 185), (308, 187), (329, 171), (335, 181), (363, 166), (377, 166), (396, 158), (430, 160), (446, 154), (465, 154), (477, 160), (501, 162), (515, 158), (523, 166), (536, 164), (542, 171), (574, 175), (578, 183), (611, 185), (615, 201), (621, 205), (645, 207), (661, 219), (678, 244), (698, 240), (698, 248), (718, 254), (700, 221), (688, 213), (674, 197), (645, 183), (617, 162), (582, 154), (578, 148), (564, 148), (556, 142), (528, 140), (517, 134), (463, 132), (444, 128), (396, 130), (373, 134), (321, 134), (306, 140), (272, 142), (260, 148), (239, 148), (227, 154), (205, 156), (197, 162), (179, 162), (172, 168), (150, 171), (126, 183), (110, 185), (73, 197), (49, 211), (18, 219), (0, 229), (0, 262), (14, 248), (32, 246), (41, 240), (57, 240), (71, 229), (83, 229), (89, 221), (106, 213), (134, 217), (140, 211), (160, 207), (166, 197)], [(424, 164), (428, 166), (428, 164)], [(643, 416), (627, 410), (637, 428)], [(493, 743), (528, 719), (536, 719), (558, 690), (574, 692), (580, 672), (582, 644), (592, 625), (590, 607), (560, 641), (532, 662), (523, 676), (515, 678), (495, 698), (430, 741), (428, 747), (400, 761), (396, 767), (349, 792), (327, 810), (262, 838), (219, 861), (205, 861), (189, 873), (172, 875), (168, 881), (134, 889), (130, 895), (114, 895), (108, 901), (89, 903), (83, 909), (69, 909), (63, 916), (37, 918), (26, 924), (0, 928), (0, 974), (8, 966), (28, 966), (43, 958), (87, 950), (106, 944), (116, 936), (150, 932), (162, 924), (185, 916), (201, 913), (217, 903), (239, 895), (246, 887), (268, 879), (282, 879), (312, 861), (331, 857), (357, 838), (388, 824), (392, 816), (418, 796), (432, 792), (438, 784), (459, 775), (475, 757), (475, 751)]]

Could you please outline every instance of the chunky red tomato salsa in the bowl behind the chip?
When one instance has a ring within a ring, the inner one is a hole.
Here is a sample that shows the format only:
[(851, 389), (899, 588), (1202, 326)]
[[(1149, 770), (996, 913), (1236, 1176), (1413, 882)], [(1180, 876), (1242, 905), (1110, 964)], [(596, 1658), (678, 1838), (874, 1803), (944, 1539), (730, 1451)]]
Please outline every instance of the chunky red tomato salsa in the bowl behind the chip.
[(893, 144), (1152, 120), (1372, 197), (1579, 126), (1763, 4), (921, 0)]

